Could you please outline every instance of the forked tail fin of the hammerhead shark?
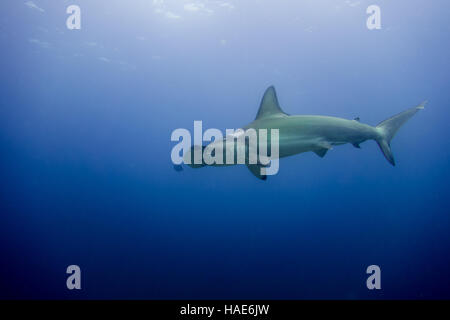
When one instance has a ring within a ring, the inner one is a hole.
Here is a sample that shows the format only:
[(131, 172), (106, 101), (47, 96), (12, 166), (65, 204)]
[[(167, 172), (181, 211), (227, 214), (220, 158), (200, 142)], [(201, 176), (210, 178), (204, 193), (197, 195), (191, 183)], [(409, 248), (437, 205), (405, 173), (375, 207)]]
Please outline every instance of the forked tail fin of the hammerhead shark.
[(415, 115), (417, 111), (425, 107), (425, 104), (426, 101), (422, 102), (417, 107), (410, 108), (389, 119), (386, 119), (376, 126), (376, 129), (380, 133), (380, 137), (376, 140), (378, 146), (380, 147), (381, 152), (383, 152), (387, 161), (389, 161), (389, 163), (392, 164), (393, 166), (395, 166), (395, 160), (391, 150), (392, 138), (394, 138), (398, 129), (400, 129), (400, 127), (406, 121), (408, 121), (413, 115)]

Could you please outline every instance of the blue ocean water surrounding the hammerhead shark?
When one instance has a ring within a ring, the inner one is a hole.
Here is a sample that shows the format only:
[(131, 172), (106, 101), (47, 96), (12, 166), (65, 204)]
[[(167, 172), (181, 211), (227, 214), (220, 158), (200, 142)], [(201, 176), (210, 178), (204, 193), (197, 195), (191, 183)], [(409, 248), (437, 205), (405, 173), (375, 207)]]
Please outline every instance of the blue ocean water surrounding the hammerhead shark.
[[(0, 10), (0, 297), (450, 298), (447, 1)], [(267, 181), (173, 169), (173, 130), (242, 127), (269, 85), (289, 114), (371, 125), (429, 103), (394, 138), (396, 167), (369, 141), (282, 159)]]

